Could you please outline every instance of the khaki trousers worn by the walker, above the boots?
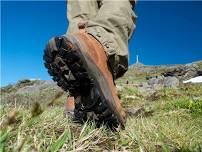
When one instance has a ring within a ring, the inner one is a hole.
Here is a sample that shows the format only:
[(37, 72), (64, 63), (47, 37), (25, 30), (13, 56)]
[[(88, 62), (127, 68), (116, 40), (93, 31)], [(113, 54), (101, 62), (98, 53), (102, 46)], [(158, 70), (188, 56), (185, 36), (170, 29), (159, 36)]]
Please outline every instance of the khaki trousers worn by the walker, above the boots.
[(67, 0), (67, 34), (78, 32), (78, 23), (86, 24), (105, 48), (114, 79), (128, 70), (128, 40), (136, 15), (129, 0)]

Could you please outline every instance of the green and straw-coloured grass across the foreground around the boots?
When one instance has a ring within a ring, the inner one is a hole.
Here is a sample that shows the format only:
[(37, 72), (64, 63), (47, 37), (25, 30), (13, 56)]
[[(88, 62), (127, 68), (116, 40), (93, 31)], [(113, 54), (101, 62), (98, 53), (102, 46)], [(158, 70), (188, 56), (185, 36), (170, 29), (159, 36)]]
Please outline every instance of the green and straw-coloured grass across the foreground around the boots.
[[(51, 89), (45, 88), (43, 95), (45, 91), (52, 94)], [(13, 103), (9, 97), (9, 102), (2, 102), (0, 109), (0, 151), (200, 152), (201, 92), (201, 85), (186, 85), (145, 97), (126, 85), (121, 92), (123, 105), (143, 107), (152, 114), (128, 117), (126, 129), (120, 132), (112, 132), (106, 126), (96, 128), (92, 121), (83, 125), (71, 122), (64, 116), (64, 96), (57, 98), (52, 106), (49, 105), (52, 100), (46, 96), (43, 100), (37, 98), (38, 102), (30, 101), (29, 105), (20, 102), (24, 97)]]

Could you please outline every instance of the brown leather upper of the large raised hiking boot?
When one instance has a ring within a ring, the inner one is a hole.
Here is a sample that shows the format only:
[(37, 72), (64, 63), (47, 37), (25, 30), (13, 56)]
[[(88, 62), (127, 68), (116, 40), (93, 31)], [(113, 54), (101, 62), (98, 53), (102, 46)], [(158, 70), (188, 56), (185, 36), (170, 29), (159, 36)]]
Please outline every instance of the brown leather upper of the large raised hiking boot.
[(124, 127), (126, 114), (117, 96), (117, 90), (107, 64), (107, 56), (104, 47), (92, 35), (87, 34), (83, 29), (83, 26), (80, 26), (80, 29), (80, 33), (74, 34), (73, 36), (79, 41), (80, 45), (85, 48), (83, 51), (85, 51), (97, 68), (99, 68), (107, 81), (110, 94), (112, 94), (113, 97), (113, 101), (109, 101), (110, 103), (108, 105), (118, 117), (122, 127)]

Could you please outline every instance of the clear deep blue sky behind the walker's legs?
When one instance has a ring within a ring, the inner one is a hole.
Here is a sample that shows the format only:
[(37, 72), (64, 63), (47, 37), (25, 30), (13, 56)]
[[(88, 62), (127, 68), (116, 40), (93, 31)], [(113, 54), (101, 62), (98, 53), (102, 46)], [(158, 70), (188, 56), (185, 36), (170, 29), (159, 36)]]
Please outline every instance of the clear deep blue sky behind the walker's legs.
[[(136, 54), (147, 65), (201, 60), (201, 8), (199, 1), (140, 1), (129, 41), (130, 64)], [(1, 86), (25, 78), (49, 80), (44, 46), (67, 26), (65, 1), (1, 2)]]

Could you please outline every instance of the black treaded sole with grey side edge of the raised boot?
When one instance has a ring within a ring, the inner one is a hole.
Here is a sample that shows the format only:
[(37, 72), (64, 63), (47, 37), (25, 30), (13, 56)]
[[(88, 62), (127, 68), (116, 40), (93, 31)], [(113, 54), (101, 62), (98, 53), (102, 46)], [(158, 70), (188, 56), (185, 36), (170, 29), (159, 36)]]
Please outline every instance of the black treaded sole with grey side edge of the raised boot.
[[(124, 122), (118, 121), (111, 108), (112, 103), (109, 100), (113, 99), (105, 78), (88, 56), (82, 54), (83, 51), (78, 51), (80, 47), (75, 44), (78, 43), (73, 37), (56, 37), (48, 43), (44, 52), (44, 64), (49, 74), (65, 91), (86, 95), (95, 87), (100, 93), (99, 100), (91, 109), (94, 108), (101, 122), (107, 123), (110, 127), (118, 127), (120, 123), (123, 127)], [(68, 80), (67, 74), (70, 71), (76, 80)]]

